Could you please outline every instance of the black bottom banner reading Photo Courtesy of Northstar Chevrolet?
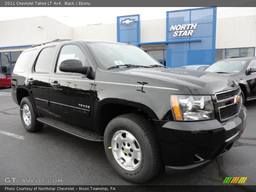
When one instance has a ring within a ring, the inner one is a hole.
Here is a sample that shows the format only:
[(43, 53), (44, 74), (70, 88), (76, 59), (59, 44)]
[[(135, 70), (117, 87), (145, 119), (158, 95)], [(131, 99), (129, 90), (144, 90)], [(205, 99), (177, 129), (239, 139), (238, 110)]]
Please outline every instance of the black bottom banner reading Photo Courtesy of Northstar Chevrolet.
[(178, 185), (170, 185), (170, 186), (156, 186), (156, 185), (106, 185), (106, 186), (35, 186), (35, 185), (24, 185), (24, 186), (0, 186), (1, 192), (103, 192), (103, 191), (111, 191), (111, 192), (157, 192), (157, 191), (189, 191), (189, 192), (199, 192), (199, 191), (225, 191), (225, 192), (240, 192), (240, 191), (255, 191), (256, 186), (246, 186), (246, 185), (211, 185), (211, 186), (199, 186), (199, 185), (192, 185), (192, 186), (178, 186)]

